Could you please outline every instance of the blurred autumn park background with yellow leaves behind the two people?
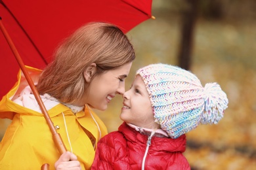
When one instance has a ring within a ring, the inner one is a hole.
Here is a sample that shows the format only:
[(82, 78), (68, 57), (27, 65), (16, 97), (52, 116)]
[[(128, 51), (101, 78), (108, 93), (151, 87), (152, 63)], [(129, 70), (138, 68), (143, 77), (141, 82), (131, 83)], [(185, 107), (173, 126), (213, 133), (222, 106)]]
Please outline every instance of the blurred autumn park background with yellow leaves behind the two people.
[[(180, 65), (202, 84), (219, 82), (229, 99), (223, 120), (187, 133), (184, 155), (192, 169), (256, 168), (256, 1), (153, 0), (152, 15), (127, 33), (137, 58), (135, 71), (150, 63)], [(122, 98), (104, 112), (108, 127), (121, 124)], [(0, 120), (0, 139), (10, 120)]]

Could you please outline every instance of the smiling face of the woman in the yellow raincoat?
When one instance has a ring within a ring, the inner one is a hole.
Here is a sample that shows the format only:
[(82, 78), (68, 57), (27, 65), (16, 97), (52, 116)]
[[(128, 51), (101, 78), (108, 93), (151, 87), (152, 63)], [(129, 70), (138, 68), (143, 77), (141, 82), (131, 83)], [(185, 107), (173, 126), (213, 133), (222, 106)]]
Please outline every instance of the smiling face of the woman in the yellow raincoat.
[(96, 75), (85, 92), (84, 103), (94, 109), (106, 110), (116, 94), (123, 95), (125, 92), (125, 78), (129, 75), (131, 65), (132, 62)]

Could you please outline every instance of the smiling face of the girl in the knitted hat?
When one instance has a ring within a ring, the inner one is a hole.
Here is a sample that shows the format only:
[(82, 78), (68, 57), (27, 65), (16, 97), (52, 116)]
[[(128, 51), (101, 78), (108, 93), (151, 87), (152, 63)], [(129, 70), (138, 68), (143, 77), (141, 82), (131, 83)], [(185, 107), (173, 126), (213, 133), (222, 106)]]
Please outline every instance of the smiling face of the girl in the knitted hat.
[(158, 124), (154, 122), (148, 91), (139, 75), (135, 77), (131, 89), (123, 94), (123, 107), (120, 118), (135, 126), (150, 129), (158, 128)]

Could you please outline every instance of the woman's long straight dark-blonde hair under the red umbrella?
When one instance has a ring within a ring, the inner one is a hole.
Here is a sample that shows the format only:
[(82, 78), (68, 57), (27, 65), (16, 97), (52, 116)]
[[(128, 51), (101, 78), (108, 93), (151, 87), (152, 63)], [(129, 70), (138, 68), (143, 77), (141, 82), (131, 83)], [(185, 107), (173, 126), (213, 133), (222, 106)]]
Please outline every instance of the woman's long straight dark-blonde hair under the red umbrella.
[(53, 61), (39, 78), (37, 90), (63, 103), (81, 98), (85, 88), (83, 71), (96, 63), (97, 74), (116, 69), (135, 59), (133, 45), (115, 25), (93, 22), (77, 29), (56, 50)]

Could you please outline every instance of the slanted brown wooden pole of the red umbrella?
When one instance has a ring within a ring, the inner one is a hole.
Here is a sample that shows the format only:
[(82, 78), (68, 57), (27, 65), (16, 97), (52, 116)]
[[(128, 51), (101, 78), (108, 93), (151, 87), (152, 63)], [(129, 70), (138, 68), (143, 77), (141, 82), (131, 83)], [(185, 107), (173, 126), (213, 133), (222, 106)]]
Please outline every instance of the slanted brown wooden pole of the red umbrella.
[(20, 69), (22, 69), (22, 72), (23, 72), (24, 76), (26, 77), (26, 80), (28, 81), (30, 88), (32, 89), (33, 95), (35, 95), (35, 99), (37, 100), (37, 103), (45, 117), (45, 120), (46, 120), (48, 126), (50, 127), (51, 133), (53, 134), (53, 141), (58, 148), (58, 152), (60, 152), (60, 154), (63, 154), (64, 152), (67, 151), (67, 149), (62, 141), (62, 138), (60, 137), (60, 134), (56, 132), (56, 129), (53, 126), (53, 122), (51, 121), (51, 118), (50, 118), (47, 110), (45, 109), (45, 105), (43, 104), (43, 101), (42, 101), (37, 89), (35, 88), (35, 84), (33, 84), (32, 78), (28, 74), (28, 71), (26, 70), (24, 63), (23, 63), (22, 59), (20, 58), (20, 55), (18, 54), (18, 51), (16, 50), (16, 47), (14, 46), (14, 44), (11, 40), (11, 37), (7, 33), (7, 30), (5, 29), (5, 27), (1, 21), (1, 17), (0, 17), (0, 29), (3, 32), (5, 39), (7, 39), (7, 42), (9, 44), (9, 46), (11, 47), (11, 50), (12, 50), (16, 60), (18, 61), (18, 65), (20, 65)]

